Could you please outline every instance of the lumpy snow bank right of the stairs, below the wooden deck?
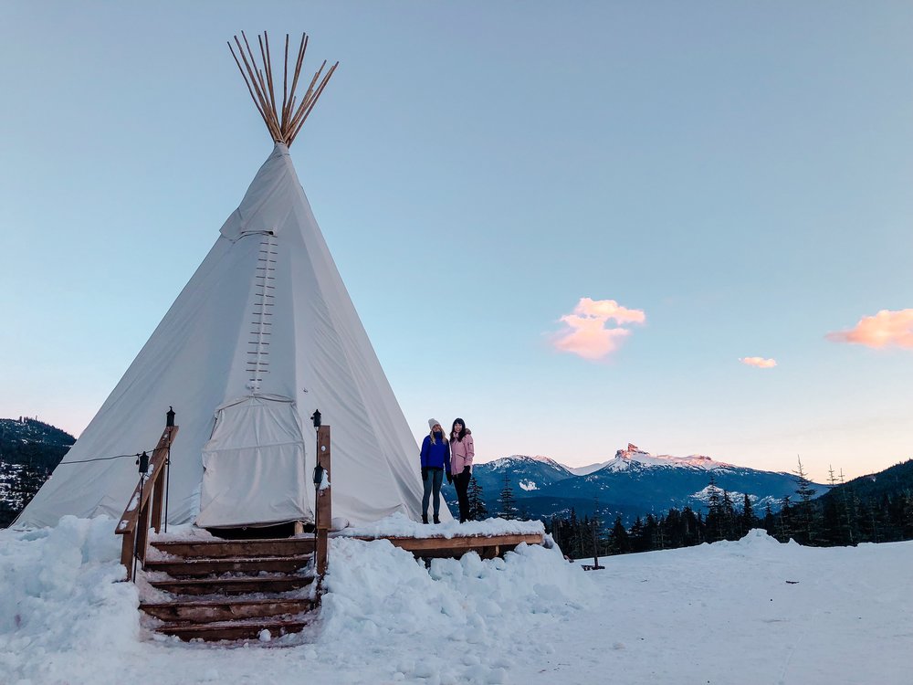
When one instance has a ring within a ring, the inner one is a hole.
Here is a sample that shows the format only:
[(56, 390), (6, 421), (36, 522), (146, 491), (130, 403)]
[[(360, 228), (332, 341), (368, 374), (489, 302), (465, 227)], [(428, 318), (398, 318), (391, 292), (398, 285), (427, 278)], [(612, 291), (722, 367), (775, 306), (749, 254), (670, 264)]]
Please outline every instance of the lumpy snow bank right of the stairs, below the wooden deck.
[(331, 560), (321, 659), (344, 646), (338, 658), (350, 667), (370, 659), (392, 680), (505, 682), (528, 659), (518, 637), (570, 617), (593, 592), (592, 580), (557, 547), (520, 544), (504, 559), (471, 552), (425, 568), (387, 541), (343, 537), (332, 540)]

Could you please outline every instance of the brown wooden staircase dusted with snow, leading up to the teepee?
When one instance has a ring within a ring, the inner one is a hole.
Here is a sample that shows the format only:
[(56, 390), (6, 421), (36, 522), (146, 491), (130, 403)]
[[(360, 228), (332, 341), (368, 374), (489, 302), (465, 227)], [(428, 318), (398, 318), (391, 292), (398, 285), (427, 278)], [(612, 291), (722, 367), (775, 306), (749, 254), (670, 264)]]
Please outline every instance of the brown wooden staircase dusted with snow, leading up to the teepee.
[[(313, 537), (150, 540), (140, 609), (148, 627), (184, 640), (249, 640), (302, 630), (318, 594)], [(151, 596), (154, 595), (154, 598)]]

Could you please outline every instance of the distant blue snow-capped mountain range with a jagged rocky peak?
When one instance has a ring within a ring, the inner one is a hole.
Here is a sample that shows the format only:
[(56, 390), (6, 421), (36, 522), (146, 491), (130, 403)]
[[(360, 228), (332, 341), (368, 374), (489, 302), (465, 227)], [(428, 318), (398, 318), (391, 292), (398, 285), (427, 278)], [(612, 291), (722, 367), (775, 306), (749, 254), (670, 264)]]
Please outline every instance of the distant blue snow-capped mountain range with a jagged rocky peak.
[[(704, 455), (653, 455), (631, 444), (614, 458), (581, 469), (547, 457), (514, 455), (477, 464), (474, 472), (491, 511), (498, 509), (507, 476), (519, 509), (532, 516), (567, 514), (571, 508), (582, 514), (598, 508), (603, 520), (621, 515), (627, 522), (670, 507), (706, 511), (711, 476), (737, 505), (748, 494), (759, 512), (768, 504), (778, 510), (782, 499), (794, 497), (796, 489), (790, 473), (739, 467)], [(827, 489), (813, 487), (819, 495)]]

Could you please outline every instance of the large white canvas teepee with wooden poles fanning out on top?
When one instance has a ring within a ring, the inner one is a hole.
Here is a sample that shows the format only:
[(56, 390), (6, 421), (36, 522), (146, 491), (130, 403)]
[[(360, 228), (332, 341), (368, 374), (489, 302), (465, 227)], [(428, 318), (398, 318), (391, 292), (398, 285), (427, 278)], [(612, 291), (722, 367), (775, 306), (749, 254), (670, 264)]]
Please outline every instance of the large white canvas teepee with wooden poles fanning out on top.
[[(320, 234), (289, 146), (337, 65), (298, 100), (302, 37), (281, 90), (268, 37), (262, 65), (229, 43), (275, 146), (203, 263), (89, 427), (16, 521), (119, 517), (169, 406), (169, 522), (204, 527), (312, 521), (319, 409), (332, 427), (333, 514), (353, 524), (421, 514), (418, 448)], [(338, 64), (338, 63), (337, 63)], [(280, 97), (281, 101), (278, 100)], [(446, 506), (442, 515), (450, 518)]]

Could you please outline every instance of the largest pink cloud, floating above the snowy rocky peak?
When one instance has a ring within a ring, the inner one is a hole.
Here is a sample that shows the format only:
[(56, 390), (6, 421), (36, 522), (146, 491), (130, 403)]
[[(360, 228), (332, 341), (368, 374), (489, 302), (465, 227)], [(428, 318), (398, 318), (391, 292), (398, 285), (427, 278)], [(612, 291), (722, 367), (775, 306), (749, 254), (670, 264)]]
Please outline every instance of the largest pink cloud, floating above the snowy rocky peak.
[[(581, 298), (572, 313), (565, 314), (560, 321), (567, 328), (552, 339), (555, 348), (583, 359), (597, 360), (614, 353), (631, 334), (620, 325), (644, 323), (646, 314), (642, 310), (629, 310), (615, 300)], [(620, 325), (609, 328), (609, 321)]]

